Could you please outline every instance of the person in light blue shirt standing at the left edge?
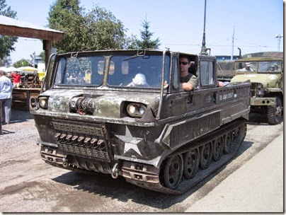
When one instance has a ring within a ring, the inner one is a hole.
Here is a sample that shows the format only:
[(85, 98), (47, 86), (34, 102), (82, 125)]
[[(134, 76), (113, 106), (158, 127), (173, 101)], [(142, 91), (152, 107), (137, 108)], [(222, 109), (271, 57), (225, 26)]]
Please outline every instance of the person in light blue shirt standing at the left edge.
[(0, 100), (3, 109), (3, 124), (10, 124), (11, 105), (12, 105), (13, 84), (10, 79), (5, 76), (5, 71), (0, 70)]

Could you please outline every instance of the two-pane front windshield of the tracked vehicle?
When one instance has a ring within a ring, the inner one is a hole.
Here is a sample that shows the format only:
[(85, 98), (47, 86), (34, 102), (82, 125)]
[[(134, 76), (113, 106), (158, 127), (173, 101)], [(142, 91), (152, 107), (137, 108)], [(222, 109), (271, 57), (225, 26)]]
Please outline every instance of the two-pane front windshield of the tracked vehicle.
[[(125, 88), (161, 88), (163, 55), (152, 53), (118, 54), (93, 57), (62, 57), (57, 65), (55, 85), (102, 86), (105, 71), (107, 86)], [(169, 81), (170, 57), (165, 59), (165, 79)]]

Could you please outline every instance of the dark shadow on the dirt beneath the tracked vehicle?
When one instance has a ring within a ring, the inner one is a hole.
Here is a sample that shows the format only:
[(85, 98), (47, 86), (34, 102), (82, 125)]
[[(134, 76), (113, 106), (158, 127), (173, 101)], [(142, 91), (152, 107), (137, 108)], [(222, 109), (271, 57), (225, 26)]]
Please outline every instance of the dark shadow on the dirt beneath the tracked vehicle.
[[(248, 148), (252, 146), (253, 142), (244, 141), (241, 148), (238, 151), (238, 154), (234, 157), (241, 155)], [(214, 176), (221, 173), (227, 167), (227, 164), (231, 163), (234, 160), (232, 158), (229, 162), (222, 165), (219, 169), (214, 171), (211, 175), (207, 176), (204, 180), (199, 182), (197, 185), (192, 187), (187, 192), (181, 195), (173, 195), (173, 194), (164, 194), (161, 192), (156, 192), (152, 190), (147, 190), (142, 187), (137, 187), (136, 185), (132, 185), (125, 181), (124, 178), (118, 177), (118, 179), (114, 180), (110, 175), (101, 174), (101, 173), (93, 173), (93, 174), (84, 174), (84, 173), (76, 173), (69, 172), (64, 173), (63, 175), (59, 175), (57, 178), (53, 178), (55, 182), (63, 183), (65, 185), (70, 185), (76, 190), (82, 190), (84, 192), (91, 192), (94, 195), (94, 199), (91, 198), (91, 201), (96, 201), (96, 198), (99, 196), (110, 197), (112, 199), (118, 199), (120, 202), (135, 202), (136, 204), (142, 205), (144, 207), (151, 207), (159, 210), (168, 211), (170, 207), (179, 202), (183, 202), (184, 199), (190, 197), (194, 192), (198, 191), (202, 186), (204, 187), (204, 194), (207, 194), (217, 185), (219, 185), (222, 180), (214, 180), (214, 183), (207, 183)], [(240, 164), (239, 164), (240, 165)], [(242, 165), (242, 164), (241, 164)], [(236, 168), (229, 169), (227, 168), (226, 173), (219, 178), (227, 178), (227, 176), (237, 170), (239, 166), (236, 165)], [(127, 208), (130, 210), (130, 206)], [(136, 207), (138, 208), (138, 207)], [(126, 209), (127, 210), (127, 209)], [(124, 209), (120, 209), (120, 211), (124, 211)], [(108, 212), (116, 212), (116, 211), (108, 211)], [(139, 212), (139, 211), (130, 211), (130, 212)]]

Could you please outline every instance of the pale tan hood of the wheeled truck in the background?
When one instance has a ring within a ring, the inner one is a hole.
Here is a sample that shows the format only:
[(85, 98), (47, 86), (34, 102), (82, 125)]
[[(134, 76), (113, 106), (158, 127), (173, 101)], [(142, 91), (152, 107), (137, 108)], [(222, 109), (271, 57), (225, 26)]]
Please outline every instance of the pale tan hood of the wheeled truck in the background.
[(280, 76), (277, 74), (240, 74), (231, 79), (231, 83), (251, 81), (251, 83), (262, 83), (265, 88), (278, 87)]

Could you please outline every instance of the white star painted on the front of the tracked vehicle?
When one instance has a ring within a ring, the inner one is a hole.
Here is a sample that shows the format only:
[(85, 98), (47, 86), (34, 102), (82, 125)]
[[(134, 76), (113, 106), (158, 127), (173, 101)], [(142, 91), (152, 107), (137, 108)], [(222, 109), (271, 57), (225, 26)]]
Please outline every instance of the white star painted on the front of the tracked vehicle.
[(125, 142), (124, 153), (126, 153), (130, 149), (133, 149), (140, 156), (142, 156), (142, 153), (140, 152), (140, 150), (138, 149), (138, 146), (137, 146), (137, 144), (139, 144), (139, 142), (142, 141), (142, 138), (132, 136), (132, 134), (130, 133), (130, 130), (128, 129), (127, 126), (125, 129), (125, 136), (122, 136), (122, 135), (115, 135), (115, 136), (117, 136), (118, 139), (121, 139), (123, 142)]

